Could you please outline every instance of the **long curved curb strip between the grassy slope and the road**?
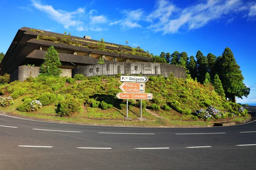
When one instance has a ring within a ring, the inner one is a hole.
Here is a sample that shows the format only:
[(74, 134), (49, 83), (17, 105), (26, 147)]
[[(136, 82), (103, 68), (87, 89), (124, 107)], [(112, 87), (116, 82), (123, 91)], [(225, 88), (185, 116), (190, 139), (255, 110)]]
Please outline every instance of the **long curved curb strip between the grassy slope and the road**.
[[(27, 119), (32, 121), (39, 121), (39, 122), (49, 122), (49, 123), (60, 123), (60, 124), (69, 124), (69, 125), (87, 125), (87, 126), (108, 126), (108, 127), (150, 127), (150, 128), (191, 128), (191, 127), (214, 127), (214, 123), (210, 125), (123, 125), (123, 124), (104, 124), (104, 123), (84, 123), (84, 122), (66, 122), (66, 121), (56, 121), (56, 120), (49, 120), (49, 119), (38, 119), (34, 117), (29, 116), (23, 116), (23, 115), (17, 115), (15, 113), (10, 112), (3, 112), (0, 111), (1, 114), (6, 116), (12, 116), (18, 119)], [(220, 125), (217, 126), (230, 126), (230, 125), (236, 125), (236, 124), (242, 124), (249, 122), (251, 120), (251, 116), (249, 119), (246, 119), (242, 122), (229, 122), (229, 123), (219, 123)]]

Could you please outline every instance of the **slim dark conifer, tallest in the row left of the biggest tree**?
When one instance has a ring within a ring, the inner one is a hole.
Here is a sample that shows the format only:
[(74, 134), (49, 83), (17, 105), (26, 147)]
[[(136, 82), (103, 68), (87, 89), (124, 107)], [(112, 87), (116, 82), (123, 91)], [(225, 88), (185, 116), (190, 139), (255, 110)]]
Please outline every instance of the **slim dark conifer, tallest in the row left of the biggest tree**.
[(201, 84), (204, 82), (205, 74), (207, 73), (206, 57), (201, 51), (196, 53), (196, 68), (197, 68), (197, 79)]

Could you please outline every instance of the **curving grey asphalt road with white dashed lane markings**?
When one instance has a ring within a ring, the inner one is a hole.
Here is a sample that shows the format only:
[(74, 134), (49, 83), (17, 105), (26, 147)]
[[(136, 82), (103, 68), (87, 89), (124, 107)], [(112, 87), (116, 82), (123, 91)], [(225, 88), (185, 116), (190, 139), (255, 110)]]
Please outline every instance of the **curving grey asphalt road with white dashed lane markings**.
[[(256, 113), (256, 107), (248, 110)], [(229, 127), (136, 128), (0, 115), (0, 170), (95, 169), (255, 170), (256, 121)]]

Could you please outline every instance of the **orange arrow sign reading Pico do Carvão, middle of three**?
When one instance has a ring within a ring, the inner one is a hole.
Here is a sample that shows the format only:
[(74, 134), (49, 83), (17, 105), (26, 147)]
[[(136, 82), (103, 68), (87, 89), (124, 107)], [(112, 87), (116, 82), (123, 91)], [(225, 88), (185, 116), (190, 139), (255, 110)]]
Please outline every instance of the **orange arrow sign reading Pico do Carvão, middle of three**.
[(123, 82), (119, 88), (121, 88), (123, 92), (145, 93), (144, 82)]

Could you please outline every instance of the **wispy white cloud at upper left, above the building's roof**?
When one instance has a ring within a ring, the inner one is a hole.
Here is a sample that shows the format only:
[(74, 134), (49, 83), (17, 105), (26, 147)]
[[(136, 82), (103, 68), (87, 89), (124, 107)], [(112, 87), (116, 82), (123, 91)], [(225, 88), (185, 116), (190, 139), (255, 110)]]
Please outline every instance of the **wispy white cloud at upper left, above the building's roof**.
[(40, 11), (48, 14), (48, 17), (56, 22), (62, 24), (64, 28), (80, 29), (84, 23), (80, 20), (75, 20), (76, 15), (84, 14), (84, 8), (78, 8), (76, 11), (67, 12), (61, 10), (55, 10), (52, 6), (42, 5), (39, 1), (31, 0), (32, 6)]

